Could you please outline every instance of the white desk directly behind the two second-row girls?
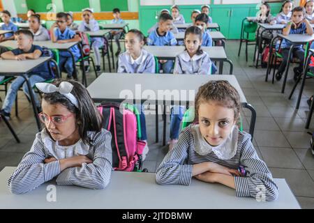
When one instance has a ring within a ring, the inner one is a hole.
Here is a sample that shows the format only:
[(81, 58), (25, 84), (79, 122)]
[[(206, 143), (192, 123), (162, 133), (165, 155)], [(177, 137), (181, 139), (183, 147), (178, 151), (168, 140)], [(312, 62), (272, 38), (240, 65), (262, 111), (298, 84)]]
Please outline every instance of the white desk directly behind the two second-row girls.
[[(184, 52), (184, 46), (144, 46), (148, 52), (162, 60), (174, 60), (178, 54)], [(227, 59), (225, 49), (223, 47), (202, 47), (209, 54), (211, 61), (220, 62), (219, 74), (223, 73), (223, 62), (230, 64), (230, 75), (233, 72), (233, 64), (230, 59)]]

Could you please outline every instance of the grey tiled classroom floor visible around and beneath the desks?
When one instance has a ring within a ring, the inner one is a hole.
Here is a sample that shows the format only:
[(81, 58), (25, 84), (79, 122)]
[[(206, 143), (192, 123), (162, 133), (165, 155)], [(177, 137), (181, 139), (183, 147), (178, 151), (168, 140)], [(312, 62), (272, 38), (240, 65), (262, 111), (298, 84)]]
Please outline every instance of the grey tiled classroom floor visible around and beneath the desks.
[[(297, 93), (292, 100), (288, 95), (294, 81), (292, 72), (287, 80), (284, 94), (280, 93), (281, 82), (271, 84), (264, 82), (265, 69), (253, 67), (253, 47), (249, 49), (249, 61), (245, 61), (244, 50), (240, 57), (237, 56), (239, 42), (227, 41), (226, 52), (234, 64), (234, 75), (237, 77), (248, 102), (257, 111), (257, 123), (253, 144), (257, 153), (267, 163), (275, 178), (285, 178), (294, 192), (302, 208), (314, 208), (314, 156), (309, 151), (310, 135), (313, 132), (314, 120), (310, 130), (304, 128), (308, 105), (306, 100), (314, 94), (314, 79), (306, 83), (299, 110), (294, 109)], [(229, 67), (225, 65), (224, 72)], [(90, 72), (88, 81), (94, 79)], [(1, 98), (3, 93), (0, 93)], [(29, 151), (33, 143), (34, 134), (37, 132), (36, 123), (29, 102), (22, 93), (19, 93), (19, 117), (13, 116), (10, 123), (19, 135), (22, 144), (16, 144), (8, 129), (0, 121), (0, 170), (6, 166), (16, 166), (24, 153)], [(244, 109), (244, 129), (248, 130), (250, 112)], [(162, 120), (160, 118), (161, 139)], [(144, 162), (144, 167), (149, 171), (156, 171), (158, 164), (167, 153), (167, 146), (155, 143), (155, 117), (147, 116), (147, 134), (149, 153)], [(169, 128), (167, 128), (167, 136)]]

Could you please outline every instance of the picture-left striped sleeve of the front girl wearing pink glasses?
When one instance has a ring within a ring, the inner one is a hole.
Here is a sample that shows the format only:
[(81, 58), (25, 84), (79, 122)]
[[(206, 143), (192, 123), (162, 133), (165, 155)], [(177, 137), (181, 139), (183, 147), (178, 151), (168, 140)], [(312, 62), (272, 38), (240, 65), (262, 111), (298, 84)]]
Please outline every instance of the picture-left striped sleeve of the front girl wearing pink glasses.
[(8, 187), (13, 194), (24, 194), (60, 174), (59, 161), (45, 164), (45, 147), (36, 134), (31, 151), (26, 153), (17, 169), (8, 179)]

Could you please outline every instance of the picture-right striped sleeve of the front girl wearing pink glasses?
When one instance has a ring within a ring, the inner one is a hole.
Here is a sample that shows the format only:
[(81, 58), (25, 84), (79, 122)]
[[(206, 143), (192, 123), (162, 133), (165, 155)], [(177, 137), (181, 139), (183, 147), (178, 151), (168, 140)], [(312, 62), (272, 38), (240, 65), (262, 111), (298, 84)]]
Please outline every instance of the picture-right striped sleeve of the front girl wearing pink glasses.
[(112, 171), (111, 134), (103, 129), (95, 138), (93, 162), (63, 170), (57, 177), (58, 185), (103, 189), (109, 184)]

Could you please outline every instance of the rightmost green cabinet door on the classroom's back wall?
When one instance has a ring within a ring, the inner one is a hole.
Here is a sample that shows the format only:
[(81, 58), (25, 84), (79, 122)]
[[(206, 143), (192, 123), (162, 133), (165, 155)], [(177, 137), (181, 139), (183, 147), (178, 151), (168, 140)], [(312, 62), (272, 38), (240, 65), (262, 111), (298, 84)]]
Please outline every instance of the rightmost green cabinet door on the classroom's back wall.
[(241, 36), (242, 20), (248, 16), (250, 8), (231, 8), (229, 39), (239, 39)]

